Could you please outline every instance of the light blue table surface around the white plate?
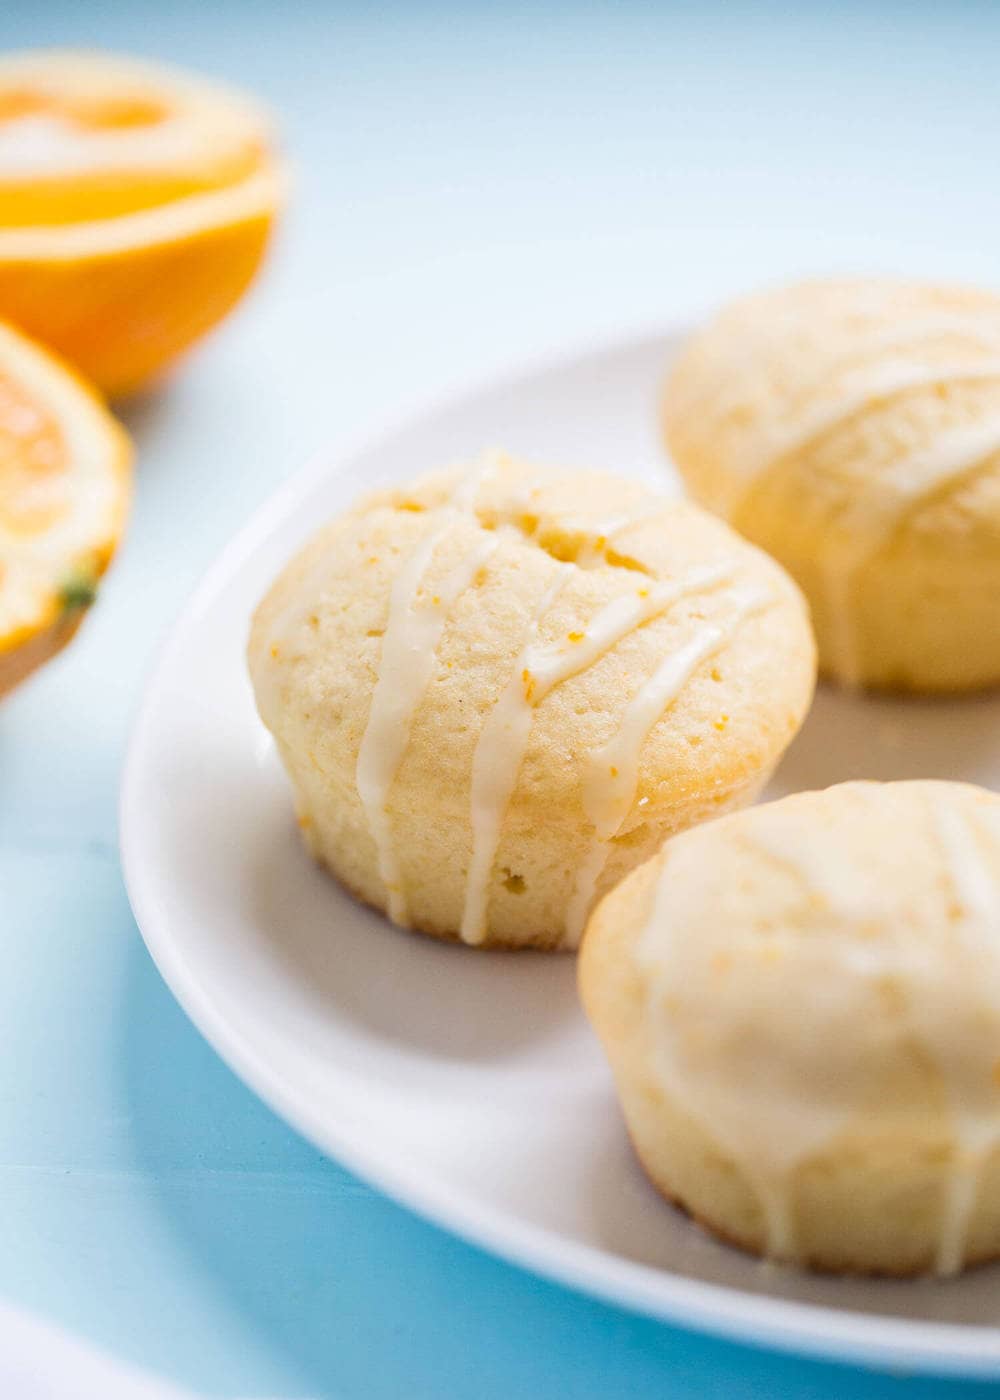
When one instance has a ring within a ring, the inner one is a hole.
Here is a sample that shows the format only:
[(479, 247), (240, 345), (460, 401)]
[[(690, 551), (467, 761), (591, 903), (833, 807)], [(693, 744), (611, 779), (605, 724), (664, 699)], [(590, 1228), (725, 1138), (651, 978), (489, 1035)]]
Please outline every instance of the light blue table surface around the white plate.
[(7, 0), (0, 43), (238, 80), (297, 172), (248, 305), (125, 410), (99, 606), (0, 710), (0, 1295), (218, 1396), (895, 1396), (539, 1282), (322, 1159), (150, 965), (116, 792), (164, 629), (314, 448), (768, 279), (996, 280), (1000, 6)]

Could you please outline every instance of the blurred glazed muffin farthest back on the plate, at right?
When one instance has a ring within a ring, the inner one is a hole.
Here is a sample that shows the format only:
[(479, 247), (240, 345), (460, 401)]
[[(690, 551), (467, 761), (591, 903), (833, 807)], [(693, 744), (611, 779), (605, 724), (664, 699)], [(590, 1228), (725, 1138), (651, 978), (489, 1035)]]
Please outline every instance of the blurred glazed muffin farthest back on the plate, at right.
[(681, 354), (665, 437), (692, 496), (800, 582), (847, 685), (1000, 682), (1000, 297), (815, 281)]

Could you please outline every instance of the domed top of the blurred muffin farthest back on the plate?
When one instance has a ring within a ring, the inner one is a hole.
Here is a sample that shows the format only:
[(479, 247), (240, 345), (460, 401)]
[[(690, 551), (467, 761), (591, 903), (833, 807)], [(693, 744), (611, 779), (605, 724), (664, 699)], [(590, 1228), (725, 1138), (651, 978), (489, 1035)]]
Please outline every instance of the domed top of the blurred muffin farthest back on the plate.
[(864, 556), (894, 533), (1000, 549), (1000, 297), (810, 281), (734, 302), (665, 396), (699, 500), (739, 522), (773, 494)]

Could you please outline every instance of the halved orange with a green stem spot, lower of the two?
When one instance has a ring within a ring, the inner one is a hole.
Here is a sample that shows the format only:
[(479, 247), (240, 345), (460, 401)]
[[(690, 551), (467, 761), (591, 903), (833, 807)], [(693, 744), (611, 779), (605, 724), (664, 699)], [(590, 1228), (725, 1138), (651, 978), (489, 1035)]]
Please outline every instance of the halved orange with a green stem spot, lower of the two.
[(125, 525), (132, 448), (97, 395), (0, 323), (0, 696), (73, 637)]

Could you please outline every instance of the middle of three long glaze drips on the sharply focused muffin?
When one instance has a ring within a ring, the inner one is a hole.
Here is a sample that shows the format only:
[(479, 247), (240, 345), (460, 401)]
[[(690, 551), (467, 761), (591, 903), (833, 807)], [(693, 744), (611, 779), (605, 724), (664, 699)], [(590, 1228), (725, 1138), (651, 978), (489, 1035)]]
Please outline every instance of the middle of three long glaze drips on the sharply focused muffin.
[(555, 686), (590, 669), (636, 627), (657, 617), (681, 598), (724, 582), (731, 573), (730, 564), (709, 566), (692, 570), (685, 578), (637, 585), (634, 591), (606, 603), (578, 640), (541, 643), (541, 613), (532, 619), (511, 676), (486, 717), (472, 760), (472, 858), (461, 930), (466, 944), (482, 942), (486, 934), (489, 878), (504, 812), (517, 785), (531, 735), (534, 708)]

